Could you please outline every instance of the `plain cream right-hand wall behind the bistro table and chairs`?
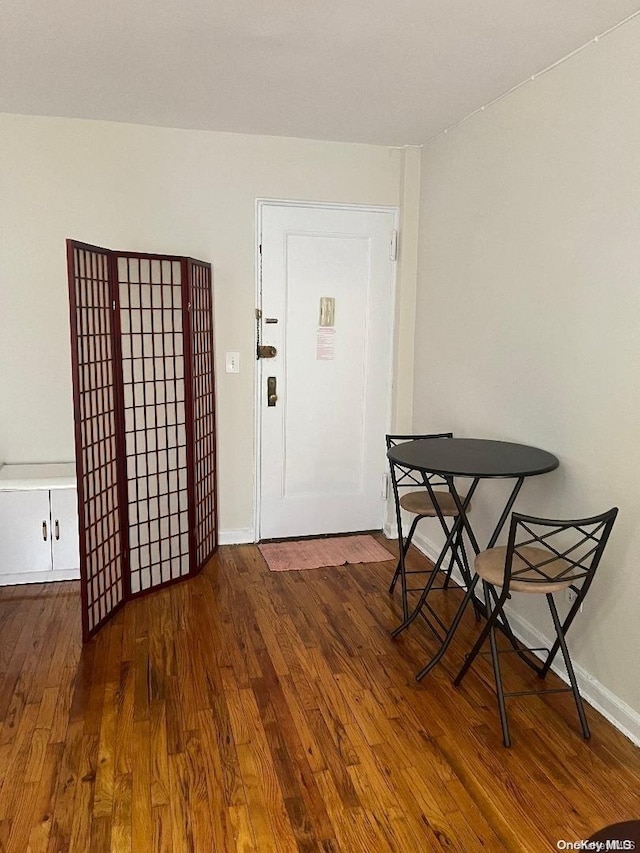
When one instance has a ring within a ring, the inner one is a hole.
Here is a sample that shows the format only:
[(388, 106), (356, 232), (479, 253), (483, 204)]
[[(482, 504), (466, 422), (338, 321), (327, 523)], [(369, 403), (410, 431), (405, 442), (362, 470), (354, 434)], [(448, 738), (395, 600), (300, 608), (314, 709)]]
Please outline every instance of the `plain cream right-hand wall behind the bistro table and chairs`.
[[(570, 645), (636, 712), (639, 92), (636, 19), (424, 149), (414, 384), (416, 430), (559, 457), (557, 472), (526, 483), (522, 511), (620, 507)], [(505, 494), (498, 483), (478, 492), (485, 536)], [(525, 598), (519, 612), (550, 631), (544, 602)]]

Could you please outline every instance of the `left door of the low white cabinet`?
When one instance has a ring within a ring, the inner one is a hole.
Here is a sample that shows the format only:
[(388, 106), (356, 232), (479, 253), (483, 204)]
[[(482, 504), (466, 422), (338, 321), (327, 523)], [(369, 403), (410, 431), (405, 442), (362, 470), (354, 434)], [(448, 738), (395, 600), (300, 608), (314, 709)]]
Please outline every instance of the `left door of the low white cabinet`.
[(0, 492), (0, 575), (51, 571), (48, 489)]

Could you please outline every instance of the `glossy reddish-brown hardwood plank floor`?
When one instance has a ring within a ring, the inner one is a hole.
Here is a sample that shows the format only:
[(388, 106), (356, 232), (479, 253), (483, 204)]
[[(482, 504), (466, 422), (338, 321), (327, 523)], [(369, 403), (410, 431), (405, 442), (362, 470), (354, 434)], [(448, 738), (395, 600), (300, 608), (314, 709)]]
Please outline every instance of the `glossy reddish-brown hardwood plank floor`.
[(472, 615), (414, 681), (393, 565), (223, 547), (85, 648), (77, 584), (1, 589), (0, 851), (541, 853), (637, 818), (640, 751), (595, 711), (587, 743), (570, 695), (510, 700), (505, 750), (486, 658), (452, 687)]

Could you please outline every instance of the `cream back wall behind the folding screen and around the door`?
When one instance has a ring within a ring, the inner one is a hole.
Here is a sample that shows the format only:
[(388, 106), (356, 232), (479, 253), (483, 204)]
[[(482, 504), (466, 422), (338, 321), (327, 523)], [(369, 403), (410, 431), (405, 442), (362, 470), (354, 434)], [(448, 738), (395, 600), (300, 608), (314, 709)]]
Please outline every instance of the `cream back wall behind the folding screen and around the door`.
[(220, 527), (250, 529), (256, 198), (396, 206), (401, 169), (375, 146), (0, 115), (0, 462), (73, 458), (65, 238), (211, 260)]

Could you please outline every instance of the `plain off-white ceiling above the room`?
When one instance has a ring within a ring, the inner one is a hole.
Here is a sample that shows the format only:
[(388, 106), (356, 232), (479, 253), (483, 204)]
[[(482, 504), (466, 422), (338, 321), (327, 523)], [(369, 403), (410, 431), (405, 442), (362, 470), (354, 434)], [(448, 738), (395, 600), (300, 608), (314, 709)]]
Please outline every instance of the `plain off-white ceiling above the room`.
[(639, 5), (2, 0), (0, 112), (415, 145)]

